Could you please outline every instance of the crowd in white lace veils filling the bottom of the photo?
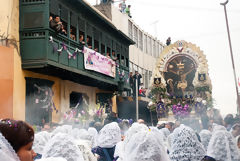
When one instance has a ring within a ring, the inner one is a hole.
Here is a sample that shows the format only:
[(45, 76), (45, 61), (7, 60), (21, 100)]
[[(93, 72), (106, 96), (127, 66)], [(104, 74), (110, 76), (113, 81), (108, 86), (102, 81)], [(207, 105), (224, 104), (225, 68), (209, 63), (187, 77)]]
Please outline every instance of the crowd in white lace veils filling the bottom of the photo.
[[(218, 122), (219, 123), (219, 122)], [(34, 133), (24, 121), (0, 121), (1, 161), (240, 161), (240, 124), (227, 115), (200, 132), (176, 121), (61, 125)]]

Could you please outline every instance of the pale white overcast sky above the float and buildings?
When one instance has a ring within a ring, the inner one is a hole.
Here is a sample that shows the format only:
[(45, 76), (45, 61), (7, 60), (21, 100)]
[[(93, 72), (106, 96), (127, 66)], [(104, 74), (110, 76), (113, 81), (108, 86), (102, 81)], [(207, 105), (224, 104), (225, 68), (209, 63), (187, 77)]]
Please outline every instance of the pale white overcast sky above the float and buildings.
[[(87, 1), (96, 4), (96, 0)], [(132, 7), (133, 20), (144, 31), (163, 43), (170, 36), (172, 43), (185, 40), (203, 50), (208, 59), (215, 108), (223, 115), (237, 113), (226, 20), (224, 8), (220, 5), (225, 1), (126, 0)], [(229, 0), (227, 14), (236, 73), (240, 77), (240, 0)]]

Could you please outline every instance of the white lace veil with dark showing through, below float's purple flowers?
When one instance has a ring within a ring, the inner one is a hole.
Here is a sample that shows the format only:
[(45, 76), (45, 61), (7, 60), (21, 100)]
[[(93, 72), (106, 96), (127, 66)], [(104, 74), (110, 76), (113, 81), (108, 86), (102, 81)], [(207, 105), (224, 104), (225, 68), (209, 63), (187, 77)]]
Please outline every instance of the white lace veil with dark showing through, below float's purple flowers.
[(200, 161), (206, 154), (196, 133), (185, 125), (180, 125), (173, 131), (170, 159), (172, 161)]

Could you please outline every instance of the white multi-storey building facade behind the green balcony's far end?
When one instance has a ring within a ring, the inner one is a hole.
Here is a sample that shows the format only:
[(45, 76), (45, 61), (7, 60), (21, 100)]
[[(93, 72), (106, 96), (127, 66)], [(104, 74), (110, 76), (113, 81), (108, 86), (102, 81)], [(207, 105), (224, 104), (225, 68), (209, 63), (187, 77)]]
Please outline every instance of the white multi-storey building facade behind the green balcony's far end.
[(132, 18), (120, 12), (113, 4), (100, 4), (95, 7), (135, 42), (129, 47), (129, 69), (133, 73), (138, 71), (142, 75), (144, 87), (148, 88), (156, 60), (164, 48), (163, 43), (142, 30)]

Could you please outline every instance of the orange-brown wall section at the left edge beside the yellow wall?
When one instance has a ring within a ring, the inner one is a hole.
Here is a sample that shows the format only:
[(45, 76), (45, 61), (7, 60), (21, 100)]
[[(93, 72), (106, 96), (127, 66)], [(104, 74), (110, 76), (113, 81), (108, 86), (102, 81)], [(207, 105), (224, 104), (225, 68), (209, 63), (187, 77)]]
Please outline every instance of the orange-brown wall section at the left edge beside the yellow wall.
[(13, 118), (14, 50), (0, 46), (0, 118)]

